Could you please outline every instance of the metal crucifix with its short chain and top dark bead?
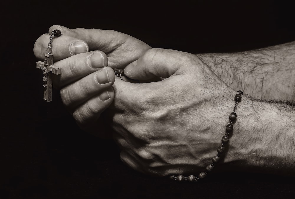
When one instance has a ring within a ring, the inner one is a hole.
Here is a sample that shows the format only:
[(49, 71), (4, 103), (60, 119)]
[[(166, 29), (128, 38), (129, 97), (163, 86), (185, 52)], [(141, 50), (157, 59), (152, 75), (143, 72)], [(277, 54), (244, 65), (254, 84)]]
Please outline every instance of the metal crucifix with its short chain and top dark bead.
[(45, 53), (44, 62), (36, 62), (36, 68), (40, 68), (43, 71), (43, 99), (47, 102), (50, 102), (52, 98), (52, 74), (59, 75), (61, 73), (61, 68), (53, 65), (52, 54), (53, 36), (59, 37), (60, 35), (60, 30), (51, 31), (51, 36), (49, 37), (50, 42), (48, 43), (48, 48), (46, 49), (47, 53)]

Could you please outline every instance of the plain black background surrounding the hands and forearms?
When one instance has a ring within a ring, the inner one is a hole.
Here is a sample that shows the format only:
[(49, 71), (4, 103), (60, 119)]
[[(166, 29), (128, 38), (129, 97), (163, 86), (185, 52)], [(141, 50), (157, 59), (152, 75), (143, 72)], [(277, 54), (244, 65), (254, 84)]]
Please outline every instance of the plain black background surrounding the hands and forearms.
[(231, 52), (295, 40), (294, 7), (275, 1), (1, 3), (0, 198), (294, 198), (294, 177), (215, 173), (178, 183), (123, 165), (112, 140), (78, 129), (58, 91), (42, 101), (35, 40), (54, 24), (113, 29), (152, 47)]

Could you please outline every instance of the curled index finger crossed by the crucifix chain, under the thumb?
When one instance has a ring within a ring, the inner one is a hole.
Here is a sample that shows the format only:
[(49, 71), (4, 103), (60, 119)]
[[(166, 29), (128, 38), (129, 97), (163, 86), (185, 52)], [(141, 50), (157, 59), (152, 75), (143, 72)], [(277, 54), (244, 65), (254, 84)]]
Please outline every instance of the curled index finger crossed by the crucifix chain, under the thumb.
[[(34, 54), (39, 60), (44, 60), (44, 54), (47, 53), (48, 43), (50, 42), (49, 34), (43, 34), (37, 39), (34, 45)], [(72, 55), (77, 55), (79, 53), (88, 52), (89, 47), (81, 39), (61, 35), (60, 37), (53, 37), (52, 40), (52, 54), (54, 60), (62, 60)]]

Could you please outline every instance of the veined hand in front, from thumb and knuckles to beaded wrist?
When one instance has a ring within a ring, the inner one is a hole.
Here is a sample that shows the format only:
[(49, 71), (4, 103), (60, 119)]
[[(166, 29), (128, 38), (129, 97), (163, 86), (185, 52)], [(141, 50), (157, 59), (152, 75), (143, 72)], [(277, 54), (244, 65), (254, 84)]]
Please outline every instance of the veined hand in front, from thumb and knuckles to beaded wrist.
[[(196, 173), (211, 164), (237, 92), (198, 57), (175, 50), (148, 50), (124, 73), (132, 79), (165, 79), (144, 84), (115, 80), (113, 110), (107, 113), (122, 161), (155, 175)], [(236, 144), (226, 162), (240, 158)]]

